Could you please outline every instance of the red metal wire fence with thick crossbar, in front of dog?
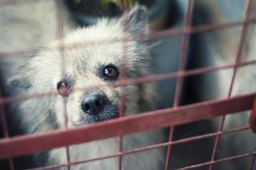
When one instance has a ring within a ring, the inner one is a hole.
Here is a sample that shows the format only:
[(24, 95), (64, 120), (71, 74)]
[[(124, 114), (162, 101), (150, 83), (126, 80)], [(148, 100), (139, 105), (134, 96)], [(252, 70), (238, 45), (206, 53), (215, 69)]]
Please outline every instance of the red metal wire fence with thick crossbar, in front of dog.
[[(5, 5), (17, 5), (19, 3), (30, 3), (30, 1), (33, 0), (9, 0), (9, 1), (0, 1), (0, 7)], [(256, 63), (256, 60), (252, 61), (246, 61), (242, 62), (242, 48), (243, 43), (245, 41), (245, 36), (248, 31), (248, 27), (252, 24), (255, 24), (256, 19), (250, 18), (251, 13), (251, 7), (252, 7), (253, 0), (248, 0), (246, 9), (244, 10), (245, 15), (244, 19), (242, 21), (237, 22), (229, 22), (229, 23), (221, 23), (221, 24), (211, 24), (211, 25), (205, 25), (205, 26), (197, 26), (197, 27), (191, 27), (192, 17), (193, 17), (193, 10), (194, 10), (194, 0), (188, 0), (186, 15), (184, 19), (184, 27), (183, 28), (172, 28), (168, 30), (162, 30), (159, 32), (151, 33), (150, 35), (137, 35), (136, 37), (124, 37), (120, 39), (113, 39), (111, 41), (122, 41), (123, 42), (123, 66), (122, 66), (122, 76), (123, 80), (117, 81), (116, 83), (113, 83), (112, 86), (125, 86), (125, 85), (136, 85), (136, 84), (143, 84), (143, 83), (152, 83), (152, 82), (158, 82), (165, 79), (176, 79), (176, 88), (175, 88), (175, 96), (174, 96), (174, 104), (173, 108), (167, 108), (162, 110), (156, 110), (151, 111), (146, 114), (142, 115), (135, 115), (135, 116), (129, 116), (129, 117), (123, 117), (124, 113), (124, 102), (125, 102), (125, 93), (120, 96), (119, 99), (119, 117), (115, 120), (110, 120), (107, 122), (102, 122), (100, 124), (92, 125), (90, 127), (78, 127), (75, 129), (68, 128), (67, 125), (67, 111), (64, 111), (64, 121), (65, 121), (65, 129), (63, 130), (55, 130), (52, 132), (47, 133), (41, 133), (41, 134), (32, 134), (32, 135), (26, 135), (21, 137), (14, 137), (9, 138), (8, 135), (8, 129), (7, 129), (7, 122), (5, 118), (5, 110), (4, 110), (4, 104), (10, 103), (10, 102), (18, 102), (27, 100), (30, 98), (40, 98), (40, 97), (47, 97), (49, 94), (57, 94), (55, 91), (48, 91), (47, 93), (34, 93), (32, 95), (19, 95), (15, 97), (3, 97), (2, 93), (0, 97), (0, 106), (1, 106), (1, 126), (3, 129), (4, 138), (0, 140), (0, 158), (8, 158), (10, 162), (10, 169), (14, 170), (14, 163), (12, 160), (12, 157), (32, 153), (35, 151), (42, 151), (47, 150), (50, 148), (65, 146), (66, 148), (66, 159), (67, 162), (65, 164), (60, 165), (50, 165), (45, 167), (38, 167), (34, 169), (54, 169), (54, 168), (61, 168), (61, 167), (68, 167), (70, 169), (71, 166), (75, 166), (77, 164), (81, 163), (88, 163), (92, 161), (99, 161), (102, 159), (107, 159), (111, 157), (118, 157), (119, 163), (118, 163), (118, 169), (122, 169), (122, 156), (127, 154), (133, 154), (136, 152), (141, 152), (149, 149), (154, 148), (160, 148), (160, 147), (166, 147), (166, 157), (165, 157), (165, 170), (169, 169), (170, 167), (170, 158), (172, 155), (172, 146), (175, 144), (180, 143), (186, 143), (186, 142), (193, 142), (193, 141), (200, 141), (208, 138), (215, 138), (215, 144), (212, 152), (211, 160), (204, 163), (199, 163), (191, 166), (186, 166), (183, 168), (179, 168), (179, 170), (186, 170), (186, 169), (196, 169), (200, 167), (207, 167), (209, 166), (209, 169), (212, 169), (213, 166), (217, 163), (225, 162), (225, 161), (231, 161), (236, 160), (242, 157), (251, 157), (252, 161), (248, 169), (253, 169), (255, 167), (255, 157), (256, 157), (256, 149), (254, 149), (251, 152), (238, 154), (235, 156), (229, 156), (224, 158), (217, 159), (216, 154), (218, 151), (219, 142), (221, 139), (221, 136), (224, 136), (226, 134), (231, 134), (235, 132), (241, 132), (241, 131), (248, 131), (250, 129), (249, 126), (246, 127), (239, 127), (232, 130), (224, 130), (224, 121), (225, 121), (225, 115), (226, 114), (232, 114), (234, 112), (239, 111), (246, 111), (252, 109), (252, 103), (255, 98), (255, 93), (246, 94), (246, 95), (240, 95), (240, 96), (234, 96), (231, 97), (231, 92), (236, 76), (236, 72), (238, 68), (242, 68), (248, 65), (253, 65)], [(64, 30), (63, 30), (63, 9), (62, 9), (62, 1), (56, 0), (56, 21), (57, 21), (57, 38), (61, 38), (64, 36)], [(224, 28), (235, 28), (235, 27), (242, 27), (240, 38), (239, 38), (239, 44), (238, 49), (236, 51), (236, 57), (235, 62), (233, 64), (229, 65), (223, 65), (223, 66), (212, 66), (212, 67), (203, 67), (193, 70), (185, 70), (185, 63), (187, 61), (187, 55), (188, 55), (188, 46), (189, 46), (189, 38), (192, 33), (202, 32), (202, 31), (210, 31), (210, 30), (219, 30)], [(124, 26), (125, 28), (126, 26)], [(146, 77), (141, 77), (137, 79), (127, 79), (126, 78), (126, 41), (135, 38), (135, 39), (159, 39), (162, 37), (170, 37), (170, 36), (176, 36), (176, 35), (182, 35), (182, 43), (181, 43), (181, 56), (179, 61), (179, 67), (178, 71), (175, 73), (167, 73), (167, 74), (160, 74), (160, 75), (150, 75)], [(110, 40), (108, 41), (102, 41), (101, 43), (110, 43)], [(82, 45), (91, 45), (95, 42), (86, 42), (83, 44), (74, 44), (73, 46), (59, 46), (59, 52), (60, 55), (63, 52), (65, 48), (76, 48)], [(12, 57), (14, 54), (22, 54), (22, 53), (29, 53), (32, 51), (37, 51), (40, 48), (37, 49), (28, 49), (25, 51), (0, 51), (0, 57)], [(63, 66), (63, 74), (65, 73), (65, 60), (63, 57), (62, 61)], [(230, 81), (230, 86), (228, 88), (228, 95), (226, 98), (213, 100), (213, 101), (204, 101), (197, 104), (187, 105), (187, 106), (179, 106), (180, 105), (180, 95), (182, 92), (182, 84), (183, 79), (195, 75), (202, 75), (206, 73), (212, 73), (217, 71), (225, 71), (225, 70), (232, 70), (232, 77)], [(96, 86), (90, 86), (85, 88), (77, 88), (74, 90), (84, 90), (86, 88), (97, 88), (99, 85)], [(1, 91), (0, 91), (1, 92)], [(63, 101), (65, 105), (65, 101)], [(220, 127), (218, 132), (206, 134), (206, 135), (200, 135), (196, 137), (190, 137), (185, 138), (181, 140), (175, 140), (173, 141), (173, 134), (174, 134), (174, 126), (187, 124), (199, 120), (204, 119), (210, 119), (213, 117), (223, 116)], [(152, 122), (151, 120), (155, 120)], [(131, 127), (130, 129), (127, 129), (125, 127)], [(139, 148), (134, 148), (130, 150), (123, 150), (122, 148), (122, 137), (128, 134), (147, 131), (147, 130), (154, 130), (159, 129), (163, 127), (170, 127), (169, 132), (169, 138), (168, 142), (153, 144), (153, 145), (147, 145)], [(97, 133), (96, 133), (97, 132)], [(99, 133), (98, 133), (99, 132)], [(89, 137), (87, 139), (83, 137)], [(72, 162), (70, 158), (69, 153), (69, 145), (75, 144), (75, 143), (81, 143), (81, 142), (91, 142), (96, 140), (101, 140), (105, 138), (110, 137), (120, 137), (120, 145), (119, 145), (119, 152), (116, 154), (111, 155), (105, 155), (102, 157), (96, 157), (91, 158), (88, 160), (83, 160), (79, 162)], [(59, 139), (65, 138), (65, 141), (59, 141)], [(36, 145), (32, 144), (36, 142)], [(23, 145), (23, 147), (20, 147), (19, 145)]]

